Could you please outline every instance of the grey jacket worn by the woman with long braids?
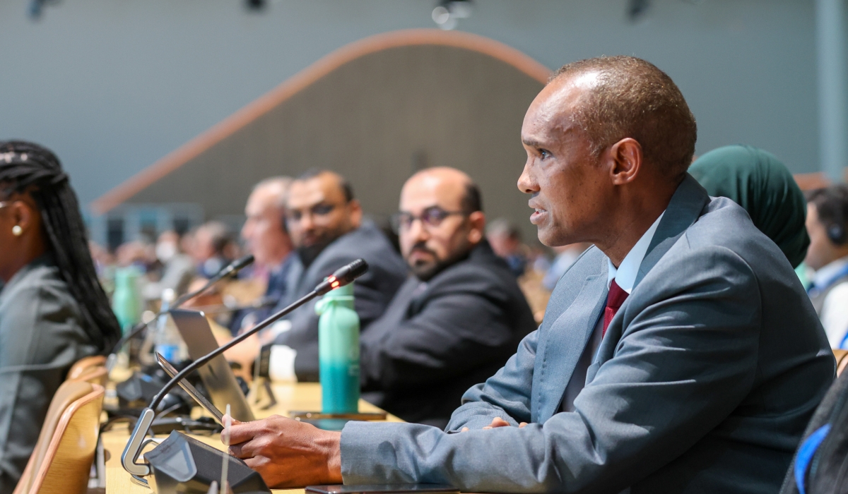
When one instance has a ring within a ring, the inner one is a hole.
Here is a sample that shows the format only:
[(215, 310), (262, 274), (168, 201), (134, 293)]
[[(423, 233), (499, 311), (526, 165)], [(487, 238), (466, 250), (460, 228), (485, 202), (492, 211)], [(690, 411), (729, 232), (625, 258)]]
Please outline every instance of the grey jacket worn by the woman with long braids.
[(0, 494), (14, 490), (70, 366), (97, 348), (49, 256), (0, 291)]

